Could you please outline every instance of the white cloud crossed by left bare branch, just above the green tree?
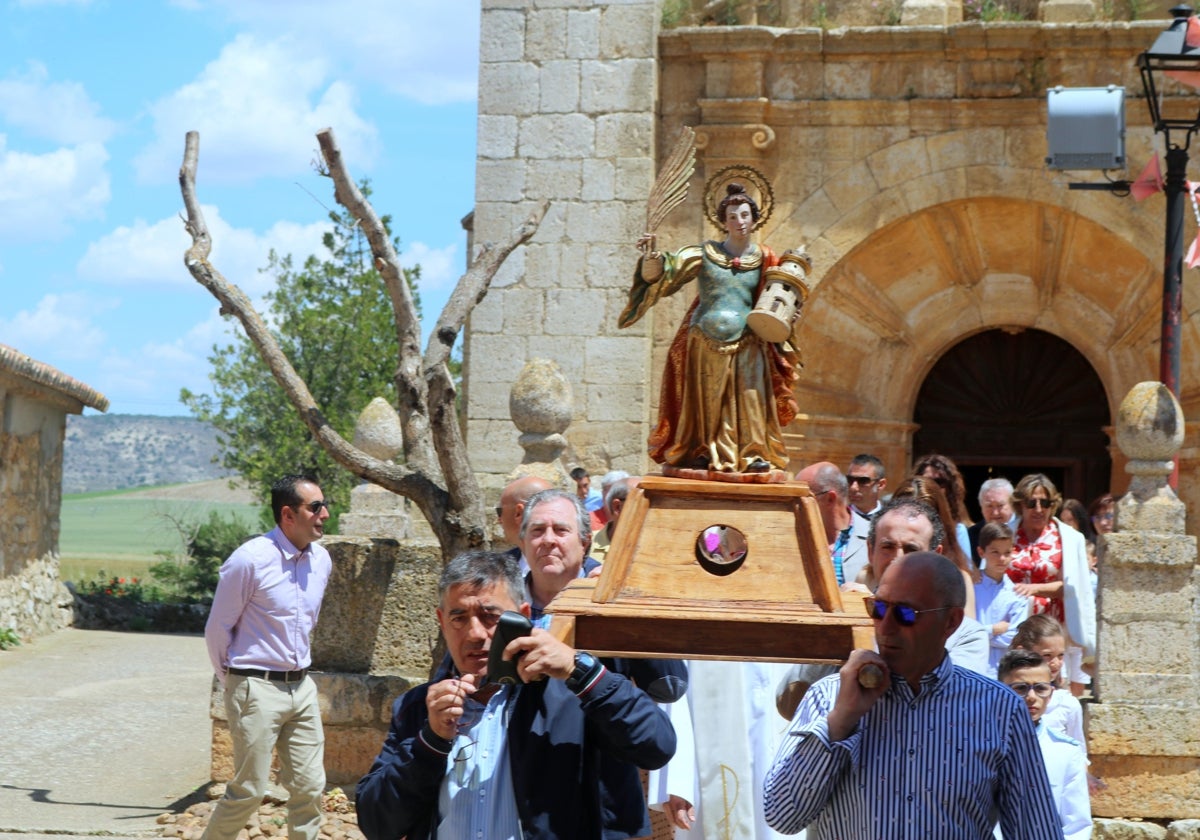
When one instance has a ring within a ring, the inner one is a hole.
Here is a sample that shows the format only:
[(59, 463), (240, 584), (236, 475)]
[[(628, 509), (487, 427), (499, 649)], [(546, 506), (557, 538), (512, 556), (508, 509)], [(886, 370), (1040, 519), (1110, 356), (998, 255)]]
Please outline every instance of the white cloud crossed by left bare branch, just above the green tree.
[[(329, 229), (328, 221), (276, 222), (258, 234), (232, 227), (217, 208), (205, 205), (203, 210), (212, 236), (210, 262), (251, 298), (275, 286), (274, 278), (259, 271), (266, 266), (271, 248), (281, 257), (293, 254), (296, 265), (308, 254), (325, 254), (320, 240)], [(175, 216), (152, 224), (138, 220), (89, 245), (76, 270), (84, 280), (113, 286), (191, 286), (196, 281), (184, 265), (184, 252), (191, 245), (192, 238)]]

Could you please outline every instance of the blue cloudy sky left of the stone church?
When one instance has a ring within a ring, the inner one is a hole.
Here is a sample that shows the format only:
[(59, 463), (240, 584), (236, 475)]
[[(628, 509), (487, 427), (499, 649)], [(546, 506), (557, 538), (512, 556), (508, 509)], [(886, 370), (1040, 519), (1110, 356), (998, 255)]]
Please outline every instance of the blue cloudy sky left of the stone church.
[[(466, 269), (479, 0), (0, 0), (0, 343), (187, 414), (238, 329), (184, 266), (185, 134), (212, 264), (252, 299), (271, 248), (323, 254), (332, 127), (420, 264), (426, 320)], [(420, 202), (409, 200), (419, 191)], [(94, 412), (88, 410), (89, 414)]]

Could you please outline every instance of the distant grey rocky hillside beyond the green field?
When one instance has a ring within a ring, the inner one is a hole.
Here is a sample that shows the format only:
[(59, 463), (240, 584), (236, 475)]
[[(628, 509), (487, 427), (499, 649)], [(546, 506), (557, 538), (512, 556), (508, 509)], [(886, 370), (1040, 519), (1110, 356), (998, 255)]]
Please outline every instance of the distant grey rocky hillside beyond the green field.
[(193, 418), (67, 416), (62, 492), (220, 479), (216, 430)]

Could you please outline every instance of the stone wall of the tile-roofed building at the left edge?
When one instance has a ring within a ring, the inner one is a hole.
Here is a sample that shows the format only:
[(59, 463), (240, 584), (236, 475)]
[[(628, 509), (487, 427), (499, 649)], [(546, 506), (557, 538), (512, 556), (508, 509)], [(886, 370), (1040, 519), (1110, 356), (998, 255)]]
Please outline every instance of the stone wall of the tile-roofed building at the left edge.
[(58, 581), (66, 409), (0, 378), (0, 629), (42, 636), (71, 623)]

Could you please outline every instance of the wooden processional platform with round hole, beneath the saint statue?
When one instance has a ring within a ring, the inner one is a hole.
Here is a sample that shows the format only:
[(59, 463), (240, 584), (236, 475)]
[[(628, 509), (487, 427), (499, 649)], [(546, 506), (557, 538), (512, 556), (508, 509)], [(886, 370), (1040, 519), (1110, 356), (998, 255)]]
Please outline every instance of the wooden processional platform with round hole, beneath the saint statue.
[(874, 647), (804, 482), (642, 479), (600, 577), (547, 612), (554, 635), (601, 655), (840, 664)]

